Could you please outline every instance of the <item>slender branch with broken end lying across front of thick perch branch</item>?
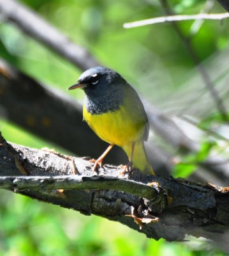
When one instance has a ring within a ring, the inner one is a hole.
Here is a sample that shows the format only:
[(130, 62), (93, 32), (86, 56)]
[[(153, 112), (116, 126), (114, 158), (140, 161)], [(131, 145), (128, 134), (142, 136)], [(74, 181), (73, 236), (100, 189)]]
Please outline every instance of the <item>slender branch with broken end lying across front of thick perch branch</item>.
[(0, 189), (109, 189), (120, 190), (129, 194), (144, 197), (149, 200), (156, 199), (159, 191), (163, 191), (157, 183), (147, 186), (135, 180), (122, 179), (122, 177), (103, 177), (82, 175), (61, 176), (4, 176), (0, 177)]

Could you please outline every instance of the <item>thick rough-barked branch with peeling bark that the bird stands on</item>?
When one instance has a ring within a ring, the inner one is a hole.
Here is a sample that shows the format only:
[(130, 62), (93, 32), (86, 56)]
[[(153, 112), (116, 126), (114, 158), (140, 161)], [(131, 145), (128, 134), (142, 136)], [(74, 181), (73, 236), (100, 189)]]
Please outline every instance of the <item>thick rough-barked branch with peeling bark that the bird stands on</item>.
[[(119, 221), (154, 239), (182, 241), (186, 234), (215, 241), (228, 239), (228, 188), (138, 171), (126, 179), (127, 175), (117, 177), (120, 171), (115, 166), (107, 165), (100, 168), (99, 176), (91, 177), (92, 164), (85, 159), (11, 144), (17, 152), (12, 154), (3, 137), (0, 144), (1, 188)], [(40, 177), (22, 177), (15, 157), (27, 173)], [(73, 165), (80, 175), (66, 177), (73, 173)]]

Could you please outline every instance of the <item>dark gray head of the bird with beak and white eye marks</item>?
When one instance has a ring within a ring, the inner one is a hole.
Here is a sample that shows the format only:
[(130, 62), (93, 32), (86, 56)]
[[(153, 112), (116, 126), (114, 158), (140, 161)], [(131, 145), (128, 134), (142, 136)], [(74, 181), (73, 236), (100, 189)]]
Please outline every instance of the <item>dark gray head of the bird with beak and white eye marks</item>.
[(105, 67), (94, 67), (86, 70), (78, 79), (77, 83), (68, 88), (82, 88), (87, 95), (98, 95), (115, 89), (124, 79), (114, 70)]

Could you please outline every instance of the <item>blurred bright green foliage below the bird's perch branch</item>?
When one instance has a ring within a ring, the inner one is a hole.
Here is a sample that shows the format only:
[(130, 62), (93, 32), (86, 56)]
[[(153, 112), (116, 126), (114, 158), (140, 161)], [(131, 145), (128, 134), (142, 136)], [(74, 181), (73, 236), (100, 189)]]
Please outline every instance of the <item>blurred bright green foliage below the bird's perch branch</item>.
[(0, 204), (0, 255), (4, 256), (225, 255), (204, 241), (194, 243), (194, 248), (192, 242), (154, 241), (120, 223), (7, 191), (1, 191)]

